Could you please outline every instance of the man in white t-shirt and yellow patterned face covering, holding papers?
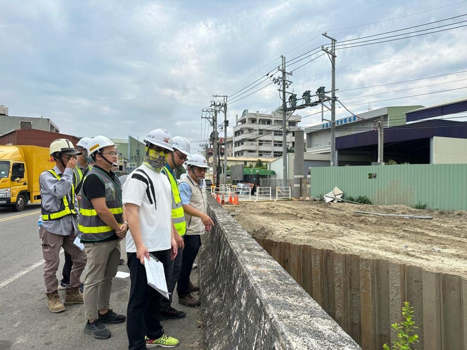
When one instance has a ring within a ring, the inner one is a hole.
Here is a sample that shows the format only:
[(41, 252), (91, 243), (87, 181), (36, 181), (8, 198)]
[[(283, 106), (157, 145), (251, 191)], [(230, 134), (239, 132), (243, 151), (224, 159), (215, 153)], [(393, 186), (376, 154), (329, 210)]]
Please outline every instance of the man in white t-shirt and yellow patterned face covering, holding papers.
[[(129, 231), (126, 255), (130, 270), (130, 297), (126, 313), (128, 350), (146, 347), (176, 347), (179, 341), (167, 336), (160, 322), (161, 294), (147, 284), (144, 257), (153, 255), (164, 265), (177, 256), (172, 224), (172, 188), (161, 173), (172, 148), (172, 138), (165, 129), (148, 133), (143, 164), (126, 179), (123, 203)], [(167, 278), (167, 276), (166, 276)]]

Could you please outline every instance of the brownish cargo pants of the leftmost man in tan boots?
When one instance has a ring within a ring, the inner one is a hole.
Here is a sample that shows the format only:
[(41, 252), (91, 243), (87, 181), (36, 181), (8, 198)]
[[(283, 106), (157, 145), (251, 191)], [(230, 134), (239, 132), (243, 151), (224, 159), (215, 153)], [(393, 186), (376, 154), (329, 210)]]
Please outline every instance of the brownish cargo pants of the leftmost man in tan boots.
[(86, 253), (81, 251), (73, 244), (76, 235), (74, 231), (69, 236), (62, 236), (47, 231), (41, 227), (39, 238), (42, 243), (42, 255), (44, 256), (44, 282), (45, 292), (53, 293), (58, 288), (57, 269), (60, 263), (59, 253), (63, 247), (65, 251), (71, 255), (73, 261), (72, 272), (70, 273), (70, 286), (79, 287), (81, 284), (80, 277), (86, 266)]

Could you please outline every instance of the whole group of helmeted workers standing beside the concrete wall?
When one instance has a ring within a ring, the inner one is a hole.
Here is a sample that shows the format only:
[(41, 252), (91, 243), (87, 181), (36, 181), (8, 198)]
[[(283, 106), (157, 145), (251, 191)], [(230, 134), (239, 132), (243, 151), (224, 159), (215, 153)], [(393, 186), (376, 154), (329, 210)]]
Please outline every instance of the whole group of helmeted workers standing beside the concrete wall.
[[(111, 336), (106, 324), (126, 321), (129, 350), (179, 344), (164, 333), (161, 320), (186, 316), (171, 305), (175, 285), (180, 304), (200, 304), (193, 293), (199, 286), (190, 273), (200, 235), (213, 225), (207, 215), (206, 159), (190, 154), (187, 139), (172, 138), (162, 128), (150, 131), (144, 143), (144, 161), (123, 185), (112, 171), (118, 165), (117, 148), (104, 136), (83, 138), (77, 149), (70, 140), (53, 141), (55, 166), (39, 177), (47, 307), (59, 313), (65, 305), (84, 303), (84, 332), (96, 339)], [(188, 174), (179, 183), (175, 171), (184, 163)], [(109, 303), (124, 238), (130, 293), (126, 315), (120, 315)], [(66, 255), (59, 282), (61, 247)], [(150, 255), (163, 264), (168, 299), (147, 283), (144, 258)], [(57, 290), (63, 288), (64, 302)]]

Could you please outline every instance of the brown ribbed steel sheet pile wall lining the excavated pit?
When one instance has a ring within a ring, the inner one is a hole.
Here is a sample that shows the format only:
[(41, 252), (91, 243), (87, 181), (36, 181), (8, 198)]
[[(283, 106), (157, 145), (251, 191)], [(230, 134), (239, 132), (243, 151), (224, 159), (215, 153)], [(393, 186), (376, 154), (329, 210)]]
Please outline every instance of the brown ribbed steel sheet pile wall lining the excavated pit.
[(391, 323), (402, 320), (404, 301), (419, 327), (415, 349), (467, 349), (467, 280), (310, 245), (257, 242), (363, 350), (397, 339)]

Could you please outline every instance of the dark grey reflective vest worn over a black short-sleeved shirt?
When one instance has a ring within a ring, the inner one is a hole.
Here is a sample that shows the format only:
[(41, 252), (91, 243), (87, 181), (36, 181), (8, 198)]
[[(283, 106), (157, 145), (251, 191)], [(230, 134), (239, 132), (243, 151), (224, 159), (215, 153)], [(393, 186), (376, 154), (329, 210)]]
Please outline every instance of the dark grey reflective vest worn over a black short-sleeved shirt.
[[(108, 210), (113, 214), (113, 217), (119, 225), (123, 222), (123, 205), (122, 205), (122, 188), (118, 180), (113, 180), (110, 176), (101, 169), (93, 167), (84, 177), (84, 183), (89, 175), (94, 174), (99, 177), (106, 188), (106, 205)], [(82, 193), (81, 208), (79, 210), (79, 238), (83, 241), (94, 242), (102, 241), (115, 234), (115, 230), (108, 226), (97, 214), (90, 199), (86, 194)]]

